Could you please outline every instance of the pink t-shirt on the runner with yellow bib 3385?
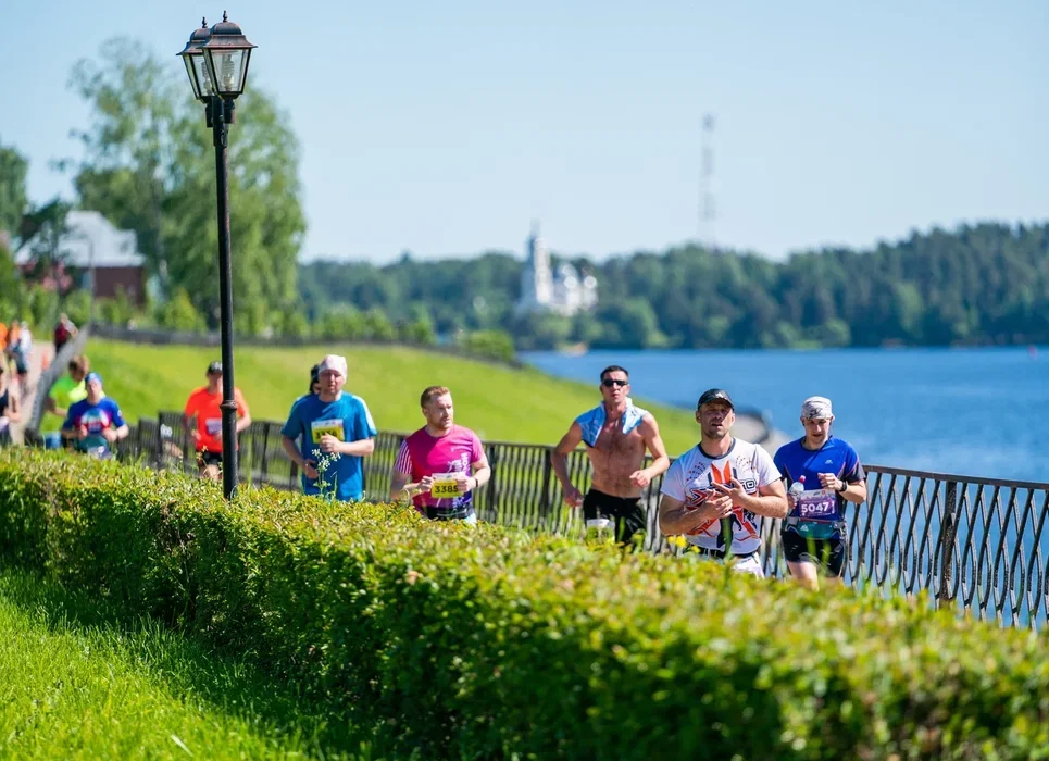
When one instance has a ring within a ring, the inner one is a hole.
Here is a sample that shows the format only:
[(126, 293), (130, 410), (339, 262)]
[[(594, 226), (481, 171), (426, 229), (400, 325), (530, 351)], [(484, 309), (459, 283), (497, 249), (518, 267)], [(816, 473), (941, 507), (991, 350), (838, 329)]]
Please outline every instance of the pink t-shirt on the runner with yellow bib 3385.
[[(413, 482), (441, 473), (472, 474), (473, 465), (484, 457), (480, 439), (470, 428), (453, 425), (447, 436), (433, 436), (425, 427), (404, 439), (394, 462), (394, 470), (407, 473)], [(459, 497), (437, 498), (430, 492), (415, 495), (416, 508), (463, 510), (473, 504), (473, 492)]]

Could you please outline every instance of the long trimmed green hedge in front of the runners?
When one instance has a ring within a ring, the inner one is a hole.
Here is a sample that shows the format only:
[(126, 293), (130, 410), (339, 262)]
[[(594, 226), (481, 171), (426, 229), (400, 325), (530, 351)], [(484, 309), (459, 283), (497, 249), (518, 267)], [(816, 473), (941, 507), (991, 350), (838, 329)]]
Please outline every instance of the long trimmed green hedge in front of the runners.
[(0, 551), (253, 653), (425, 758), (1033, 758), (1046, 637), (925, 601), (63, 454), (0, 456)]

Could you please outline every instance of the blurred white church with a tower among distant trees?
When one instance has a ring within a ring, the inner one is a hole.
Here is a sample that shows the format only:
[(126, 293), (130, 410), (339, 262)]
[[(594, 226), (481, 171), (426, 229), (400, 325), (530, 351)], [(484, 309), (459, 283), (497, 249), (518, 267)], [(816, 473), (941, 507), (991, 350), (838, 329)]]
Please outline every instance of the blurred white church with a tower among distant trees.
[(565, 262), (557, 271), (550, 267), (550, 249), (539, 237), (539, 226), (533, 224), (525, 244), (525, 269), (521, 273), (521, 298), (517, 313), (554, 312), (571, 316), (580, 310), (592, 309), (598, 301), (598, 282), (594, 275), (579, 276)]

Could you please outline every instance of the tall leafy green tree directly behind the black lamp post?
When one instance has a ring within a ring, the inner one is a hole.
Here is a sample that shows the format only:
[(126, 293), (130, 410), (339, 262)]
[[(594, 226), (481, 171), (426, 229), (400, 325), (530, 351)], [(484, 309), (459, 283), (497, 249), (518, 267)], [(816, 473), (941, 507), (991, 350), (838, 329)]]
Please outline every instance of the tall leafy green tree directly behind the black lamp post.
[[(126, 39), (80, 61), (72, 87), (92, 107), (66, 162), (84, 208), (138, 234), (168, 296), (183, 289), (211, 327), (218, 322), (215, 165), (200, 104), (179, 67)], [(296, 301), (296, 259), (305, 232), (298, 141), (288, 117), (252, 87), (229, 130), (229, 196), (237, 327), (258, 334)]]

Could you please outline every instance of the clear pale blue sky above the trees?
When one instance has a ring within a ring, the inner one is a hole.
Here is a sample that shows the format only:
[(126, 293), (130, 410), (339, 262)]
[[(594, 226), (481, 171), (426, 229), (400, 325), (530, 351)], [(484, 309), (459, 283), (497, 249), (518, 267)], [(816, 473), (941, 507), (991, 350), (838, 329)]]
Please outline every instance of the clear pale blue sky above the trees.
[[(303, 261), (521, 252), (533, 220), (553, 251), (598, 260), (696, 239), (782, 259), (1049, 216), (1044, 1), (226, 9), (259, 46), (248, 87), (301, 144)], [(123, 35), (179, 66), (223, 10), (0, 0), (0, 144), (29, 159), (30, 200), (72, 198), (51, 162), (89, 121), (67, 88), (77, 60)]]

